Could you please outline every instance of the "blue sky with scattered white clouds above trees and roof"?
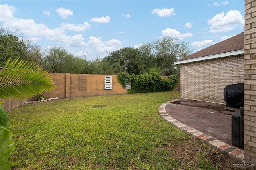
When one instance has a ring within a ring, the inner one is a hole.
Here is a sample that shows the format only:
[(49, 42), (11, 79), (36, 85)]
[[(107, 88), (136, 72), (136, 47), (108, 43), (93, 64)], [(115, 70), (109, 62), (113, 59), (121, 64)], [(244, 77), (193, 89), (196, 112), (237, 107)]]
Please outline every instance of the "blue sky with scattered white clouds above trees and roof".
[(1, 0), (0, 22), (45, 50), (90, 61), (163, 37), (194, 53), (244, 32), (244, 0)]

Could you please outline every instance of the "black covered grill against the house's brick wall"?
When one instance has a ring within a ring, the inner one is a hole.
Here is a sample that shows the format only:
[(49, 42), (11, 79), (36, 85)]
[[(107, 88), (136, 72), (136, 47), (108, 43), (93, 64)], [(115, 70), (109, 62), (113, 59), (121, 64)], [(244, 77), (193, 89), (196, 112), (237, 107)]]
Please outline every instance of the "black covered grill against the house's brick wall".
[(224, 101), (226, 102), (226, 107), (243, 107), (244, 83), (227, 85), (224, 88)]

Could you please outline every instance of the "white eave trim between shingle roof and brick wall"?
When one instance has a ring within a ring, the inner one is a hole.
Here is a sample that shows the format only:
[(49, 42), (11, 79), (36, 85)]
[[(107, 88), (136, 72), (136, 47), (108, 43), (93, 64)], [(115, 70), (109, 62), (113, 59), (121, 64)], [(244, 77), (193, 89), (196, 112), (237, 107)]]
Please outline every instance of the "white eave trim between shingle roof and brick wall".
[(176, 61), (176, 62), (174, 62), (174, 65), (184, 64), (184, 63), (192, 63), (192, 62), (196, 62), (196, 61), (203, 61), (203, 60), (216, 59), (216, 58), (222, 58), (222, 57), (228, 57), (228, 56), (232, 56), (232, 55), (241, 55), (241, 54), (244, 54), (244, 49), (238, 50), (238, 51), (231, 51), (231, 52), (227, 52), (227, 53), (220, 53), (220, 54), (216, 54), (216, 55), (208, 55), (205, 57), (187, 59), (187, 60), (183, 60), (183, 61)]

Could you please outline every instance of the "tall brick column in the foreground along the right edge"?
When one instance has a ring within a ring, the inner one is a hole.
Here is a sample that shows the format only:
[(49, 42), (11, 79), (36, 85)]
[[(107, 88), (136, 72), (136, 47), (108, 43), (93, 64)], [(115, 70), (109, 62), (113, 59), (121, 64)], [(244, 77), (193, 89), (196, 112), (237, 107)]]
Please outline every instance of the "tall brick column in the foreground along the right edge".
[(244, 159), (256, 163), (256, 1), (245, 1)]

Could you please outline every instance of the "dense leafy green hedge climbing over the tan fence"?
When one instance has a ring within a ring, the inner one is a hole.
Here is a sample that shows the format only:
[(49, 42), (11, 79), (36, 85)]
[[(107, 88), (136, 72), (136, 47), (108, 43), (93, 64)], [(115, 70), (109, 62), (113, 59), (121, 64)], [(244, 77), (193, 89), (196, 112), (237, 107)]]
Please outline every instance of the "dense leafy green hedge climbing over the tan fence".
[(163, 79), (157, 73), (144, 73), (141, 75), (122, 73), (117, 76), (118, 82), (124, 87), (126, 80), (131, 81), (132, 88), (128, 93), (149, 93), (160, 91), (172, 91), (178, 83), (179, 76), (170, 75), (168, 79)]

